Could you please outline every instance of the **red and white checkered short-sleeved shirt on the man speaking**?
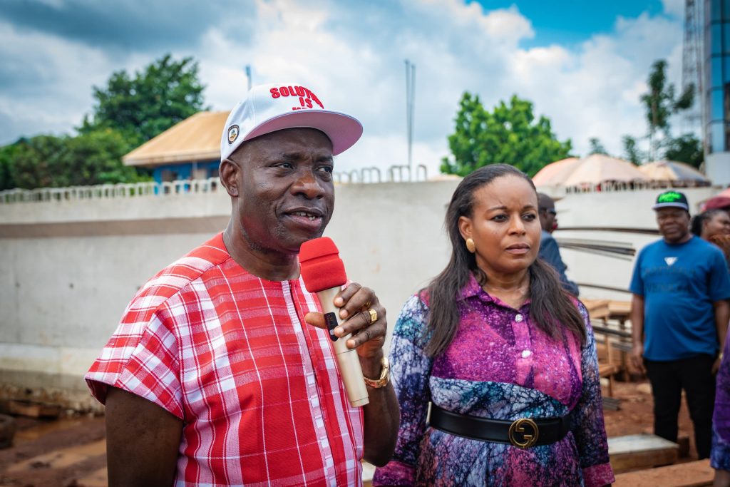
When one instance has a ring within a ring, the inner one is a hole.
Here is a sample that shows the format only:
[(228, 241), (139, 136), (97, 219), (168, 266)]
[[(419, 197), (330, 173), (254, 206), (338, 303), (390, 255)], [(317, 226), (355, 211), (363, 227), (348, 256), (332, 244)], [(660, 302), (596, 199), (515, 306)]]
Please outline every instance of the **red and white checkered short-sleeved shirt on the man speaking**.
[(223, 235), (148, 281), (86, 381), (183, 419), (175, 486), (360, 486), (361, 408), (350, 407), (320, 310), (300, 280), (242, 269)]

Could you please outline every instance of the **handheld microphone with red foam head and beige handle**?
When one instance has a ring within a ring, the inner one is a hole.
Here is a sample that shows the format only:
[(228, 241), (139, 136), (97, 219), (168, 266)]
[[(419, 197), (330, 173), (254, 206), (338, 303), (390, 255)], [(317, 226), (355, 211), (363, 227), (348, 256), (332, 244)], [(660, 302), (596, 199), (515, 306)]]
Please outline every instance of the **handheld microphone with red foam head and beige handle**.
[(339, 308), (334, 305), (334, 296), (339, 293), (340, 286), (347, 282), (345, 264), (342, 264), (342, 259), (339, 258), (337, 245), (334, 245), (332, 239), (328, 237), (304, 242), (299, 249), (299, 267), (307, 291), (317, 293), (322, 305), (329, 337), (334, 342), (334, 351), (337, 353), (339, 375), (345, 383), (347, 399), (353, 407), (364, 406), (370, 400), (360, 367), (360, 358), (354, 348), (347, 348), (345, 345), (353, 335), (337, 337), (333, 332), (334, 328), (342, 323), (342, 319), (339, 318)]

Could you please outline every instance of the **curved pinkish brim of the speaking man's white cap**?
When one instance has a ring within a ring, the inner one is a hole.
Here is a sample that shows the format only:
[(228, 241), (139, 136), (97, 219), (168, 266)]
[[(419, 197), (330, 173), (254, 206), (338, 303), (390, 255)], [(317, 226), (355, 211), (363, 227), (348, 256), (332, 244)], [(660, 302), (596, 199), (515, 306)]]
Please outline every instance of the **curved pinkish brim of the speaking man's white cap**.
[(345, 152), (363, 134), (362, 124), (350, 115), (328, 110), (297, 110), (283, 113), (256, 126), (241, 141), (270, 134), (284, 129), (317, 129), (323, 131), (332, 142), (332, 155)]

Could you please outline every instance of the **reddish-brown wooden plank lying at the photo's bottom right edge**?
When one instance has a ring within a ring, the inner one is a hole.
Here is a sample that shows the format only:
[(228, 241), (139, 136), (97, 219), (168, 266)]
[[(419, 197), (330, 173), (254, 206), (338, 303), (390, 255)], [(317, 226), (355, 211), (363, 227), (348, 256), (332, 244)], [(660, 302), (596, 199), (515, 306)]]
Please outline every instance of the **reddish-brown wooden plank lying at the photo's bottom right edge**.
[(704, 487), (712, 485), (715, 470), (710, 460), (688, 461), (683, 464), (637, 470), (616, 475), (614, 487)]

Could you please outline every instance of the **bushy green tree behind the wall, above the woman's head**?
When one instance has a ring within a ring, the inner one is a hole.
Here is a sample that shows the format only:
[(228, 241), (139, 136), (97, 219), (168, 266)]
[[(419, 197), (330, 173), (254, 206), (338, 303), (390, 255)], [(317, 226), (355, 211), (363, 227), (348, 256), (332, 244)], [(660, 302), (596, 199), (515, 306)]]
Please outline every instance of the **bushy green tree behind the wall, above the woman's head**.
[(464, 92), (456, 113), (456, 129), (448, 137), (452, 158), (443, 158), (441, 172), (466, 176), (488, 164), (512, 164), (532, 176), (546, 164), (569, 156), (570, 139), (561, 142), (550, 120), (535, 120), (532, 103), (512, 96), (492, 112), (479, 96)]

